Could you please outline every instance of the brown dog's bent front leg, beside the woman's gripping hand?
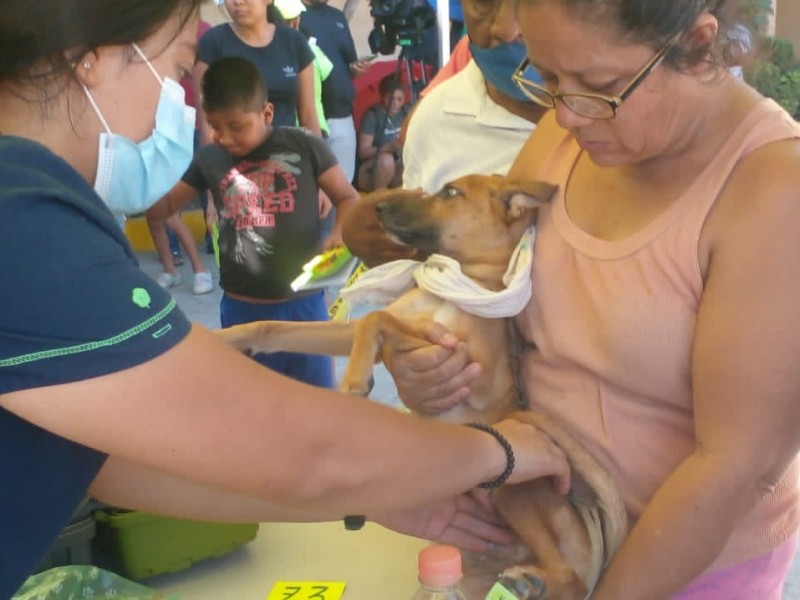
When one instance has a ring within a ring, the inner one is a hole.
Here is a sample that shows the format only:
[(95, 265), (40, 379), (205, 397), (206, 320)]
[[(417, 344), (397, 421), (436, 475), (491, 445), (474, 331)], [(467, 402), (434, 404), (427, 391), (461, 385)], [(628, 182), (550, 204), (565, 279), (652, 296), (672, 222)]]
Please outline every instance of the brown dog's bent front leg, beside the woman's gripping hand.
[(369, 313), (356, 323), (353, 350), (342, 377), (339, 390), (366, 396), (375, 362), (388, 351), (408, 351), (427, 346), (430, 342), (413, 325), (380, 310)]

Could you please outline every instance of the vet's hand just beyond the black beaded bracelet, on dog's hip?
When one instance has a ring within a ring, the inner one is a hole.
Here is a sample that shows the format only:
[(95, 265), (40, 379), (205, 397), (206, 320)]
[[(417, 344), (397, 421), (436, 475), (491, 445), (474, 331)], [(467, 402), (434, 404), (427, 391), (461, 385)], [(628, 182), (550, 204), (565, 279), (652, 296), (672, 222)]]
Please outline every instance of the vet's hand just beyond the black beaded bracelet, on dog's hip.
[(552, 477), (559, 493), (569, 492), (571, 482), (567, 457), (547, 434), (534, 425), (513, 418), (495, 423), (493, 427), (508, 440), (514, 450), (516, 464), (508, 483)]

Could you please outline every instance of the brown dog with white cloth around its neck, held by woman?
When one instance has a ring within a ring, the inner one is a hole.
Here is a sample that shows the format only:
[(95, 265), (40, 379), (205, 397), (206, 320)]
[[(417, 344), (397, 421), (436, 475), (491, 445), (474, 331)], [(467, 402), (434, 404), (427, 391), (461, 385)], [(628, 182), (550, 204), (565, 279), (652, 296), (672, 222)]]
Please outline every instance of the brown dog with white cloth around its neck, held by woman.
[[(514, 249), (534, 222), (537, 208), (554, 191), (554, 186), (541, 182), (470, 175), (435, 195), (387, 190), (370, 201), (376, 202), (378, 219), (390, 237), (424, 254), (449, 256), (473, 281), (501, 290)], [(253, 353), (349, 355), (340, 389), (365, 395), (374, 362), (427, 345), (421, 324), (431, 320), (466, 340), (470, 359), (484, 367), (470, 396), (436, 418), (493, 423), (523, 407), (512, 366), (511, 320), (477, 317), (420, 288), (405, 292), (386, 310), (349, 323), (262, 321), (219, 334)], [(622, 498), (607, 472), (562, 428), (531, 411), (514, 417), (537, 426), (562, 448), (576, 486), (566, 497), (548, 480), (497, 490), (495, 506), (522, 544), (502, 555), (467, 556), (467, 585), (485, 593), (502, 571), (506, 586), (522, 600), (583, 600), (626, 534)]]

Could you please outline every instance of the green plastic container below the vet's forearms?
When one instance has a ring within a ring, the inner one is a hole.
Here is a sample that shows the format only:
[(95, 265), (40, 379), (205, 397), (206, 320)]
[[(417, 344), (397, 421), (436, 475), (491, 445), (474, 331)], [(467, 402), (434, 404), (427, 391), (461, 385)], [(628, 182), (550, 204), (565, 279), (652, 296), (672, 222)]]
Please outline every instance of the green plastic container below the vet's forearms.
[(137, 511), (96, 511), (95, 544), (129, 579), (189, 568), (253, 540), (258, 523), (210, 523)]

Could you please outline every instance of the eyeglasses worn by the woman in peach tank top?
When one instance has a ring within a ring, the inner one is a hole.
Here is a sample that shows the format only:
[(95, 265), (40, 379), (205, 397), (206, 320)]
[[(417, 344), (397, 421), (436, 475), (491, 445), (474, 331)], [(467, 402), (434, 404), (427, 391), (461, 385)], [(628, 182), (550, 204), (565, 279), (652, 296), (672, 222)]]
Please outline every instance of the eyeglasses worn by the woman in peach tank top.
[(560, 92), (553, 93), (547, 88), (534, 83), (527, 77), (525, 72), (530, 68), (530, 60), (526, 57), (523, 60), (511, 79), (517, 84), (522, 93), (524, 93), (533, 102), (544, 106), (545, 108), (555, 108), (556, 100), (561, 100), (564, 106), (569, 108), (572, 112), (582, 117), (589, 119), (613, 119), (617, 115), (620, 104), (630, 96), (633, 91), (639, 87), (648, 75), (655, 69), (667, 52), (675, 44), (678, 35), (674, 35), (664, 46), (656, 52), (655, 56), (647, 61), (647, 64), (631, 79), (630, 83), (617, 96), (607, 96), (605, 94), (562, 94)]

